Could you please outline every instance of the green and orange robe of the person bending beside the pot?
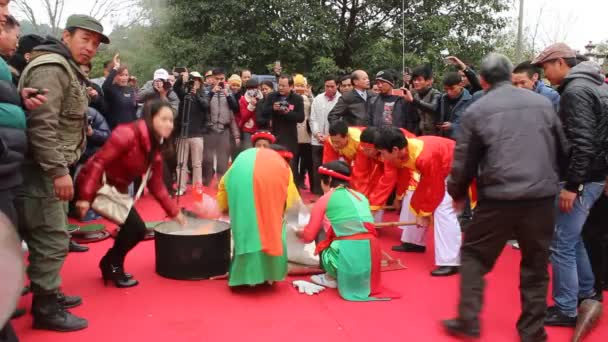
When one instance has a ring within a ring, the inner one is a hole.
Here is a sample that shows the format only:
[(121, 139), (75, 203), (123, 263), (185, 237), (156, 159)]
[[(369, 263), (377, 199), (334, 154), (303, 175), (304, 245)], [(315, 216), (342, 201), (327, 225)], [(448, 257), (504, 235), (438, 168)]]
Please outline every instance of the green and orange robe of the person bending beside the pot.
[(229, 286), (280, 281), (287, 275), (285, 209), (300, 200), (289, 165), (270, 149), (250, 148), (222, 177), (217, 201), (229, 211), (234, 256)]

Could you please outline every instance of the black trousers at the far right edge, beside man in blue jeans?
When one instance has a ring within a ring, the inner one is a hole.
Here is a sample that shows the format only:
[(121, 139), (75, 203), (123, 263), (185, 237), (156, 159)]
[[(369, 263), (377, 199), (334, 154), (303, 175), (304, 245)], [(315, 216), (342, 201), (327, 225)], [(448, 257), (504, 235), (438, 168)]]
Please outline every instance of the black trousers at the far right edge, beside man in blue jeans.
[(583, 240), (595, 276), (595, 291), (608, 286), (608, 197), (595, 202), (583, 226)]

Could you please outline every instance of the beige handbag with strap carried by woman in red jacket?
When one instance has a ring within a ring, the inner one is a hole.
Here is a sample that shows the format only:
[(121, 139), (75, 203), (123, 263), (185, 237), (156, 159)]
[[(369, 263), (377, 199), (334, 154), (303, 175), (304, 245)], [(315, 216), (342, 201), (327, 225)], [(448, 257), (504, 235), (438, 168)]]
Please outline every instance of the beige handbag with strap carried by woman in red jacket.
[(97, 191), (97, 195), (93, 200), (93, 204), (91, 204), (91, 208), (93, 208), (93, 210), (99, 215), (118, 225), (125, 223), (127, 216), (129, 216), (129, 211), (131, 211), (131, 207), (133, 207), (133, 204), (139, 199), (144, 191), (144, 188), (146, 187), (151, 169), (152, 165), (148, 167), (144, 178), (141, 180), (141, 185), (137, 190), (135, 199), (133, 199), (129, 194), (123, 194), (122, 192), (118, 191), (118, 189), (108, 184), (106, 174), (104, 173), (102, 178), (103, 185)]

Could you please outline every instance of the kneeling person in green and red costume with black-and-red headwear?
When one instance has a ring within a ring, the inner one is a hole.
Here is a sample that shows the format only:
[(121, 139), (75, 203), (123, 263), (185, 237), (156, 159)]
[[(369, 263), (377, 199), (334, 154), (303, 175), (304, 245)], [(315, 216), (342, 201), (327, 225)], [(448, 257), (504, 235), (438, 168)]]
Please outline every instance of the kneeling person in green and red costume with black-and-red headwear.
[(381, 289), (382, 251), (369, 201), (349, 188), (350, 174), (348, 164), (339, 160), (319, 167), (325, 195), (315, 203), (308, 225), (296, 235), (304, 242), (312, 242), (324, 222), (329, 222), (327, 237), (316, 250), (326, 273), (312, 276), (312, 282), (337, 288), (346, 300), (380, 300), (372, 296)]

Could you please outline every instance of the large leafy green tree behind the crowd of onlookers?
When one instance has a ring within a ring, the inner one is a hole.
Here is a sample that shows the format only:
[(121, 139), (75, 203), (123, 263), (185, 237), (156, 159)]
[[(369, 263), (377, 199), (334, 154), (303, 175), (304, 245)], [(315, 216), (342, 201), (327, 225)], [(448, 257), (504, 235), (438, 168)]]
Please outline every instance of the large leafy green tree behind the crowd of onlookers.
[[(401, 38), (411, 63), (443, 67), (448, 48), (477, 61), (492, 50), (506, 21), (506, 0), (172, 0), (157, 18), (156, 42), (173, 65), (248, 66), (266, 73), (318, 71), (329, 58), (340, 70), (401, 65)], [(168, 14), (168, 15), (167, 15)], [(402, 29), (402, 15), (405, 25)], [(316, 69), (315, 69), (316, 66)]]

